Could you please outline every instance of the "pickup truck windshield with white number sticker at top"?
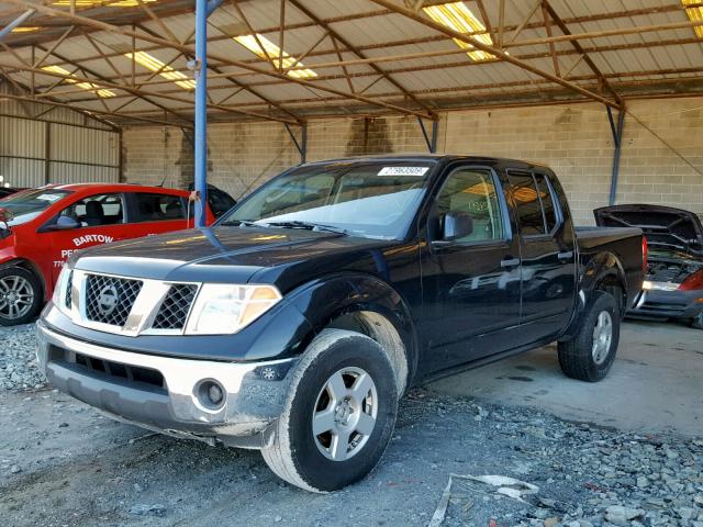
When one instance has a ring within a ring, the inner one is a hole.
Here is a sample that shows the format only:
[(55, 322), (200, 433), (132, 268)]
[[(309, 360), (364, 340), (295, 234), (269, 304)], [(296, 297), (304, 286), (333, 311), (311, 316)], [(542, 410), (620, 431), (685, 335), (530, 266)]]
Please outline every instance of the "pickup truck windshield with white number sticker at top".
[(353, 236), (402, 239), (432, 166), (380, 161), (300, 167), (255, 191), (220, 225), (320, 226)]

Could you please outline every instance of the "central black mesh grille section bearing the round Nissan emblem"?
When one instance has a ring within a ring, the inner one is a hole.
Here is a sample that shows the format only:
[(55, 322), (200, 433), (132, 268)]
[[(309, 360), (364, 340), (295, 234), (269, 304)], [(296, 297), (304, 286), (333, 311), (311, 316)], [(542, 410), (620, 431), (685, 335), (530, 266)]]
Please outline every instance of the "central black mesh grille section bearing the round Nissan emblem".
[(142, 285), (141, 280), (88, 274), (86, 317), (111, 326), (124, 326)]

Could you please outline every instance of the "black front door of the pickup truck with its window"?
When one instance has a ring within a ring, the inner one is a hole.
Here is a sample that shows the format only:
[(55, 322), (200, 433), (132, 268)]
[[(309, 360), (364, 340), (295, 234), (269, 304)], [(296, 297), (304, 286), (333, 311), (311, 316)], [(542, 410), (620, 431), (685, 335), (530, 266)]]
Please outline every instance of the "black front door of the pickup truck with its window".
[[(507, 349), (520, 323), (520, 251), (512, 240), (507, 211), (496, 176), (461, 167), (438, 191), (422, 253), (424, 334), (433, 370)], [(467, 213), (473, 232), (443, 242), (447, 212)]]

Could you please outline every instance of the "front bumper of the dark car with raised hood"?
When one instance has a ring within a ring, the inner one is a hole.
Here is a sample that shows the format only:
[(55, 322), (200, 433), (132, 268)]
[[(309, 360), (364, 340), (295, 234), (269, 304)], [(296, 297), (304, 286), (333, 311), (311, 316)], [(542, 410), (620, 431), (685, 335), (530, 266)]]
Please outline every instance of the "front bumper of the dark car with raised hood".
[(645, 290), (629, 316), (641, 318), (694, 318), (703, 311), (703, 291)]

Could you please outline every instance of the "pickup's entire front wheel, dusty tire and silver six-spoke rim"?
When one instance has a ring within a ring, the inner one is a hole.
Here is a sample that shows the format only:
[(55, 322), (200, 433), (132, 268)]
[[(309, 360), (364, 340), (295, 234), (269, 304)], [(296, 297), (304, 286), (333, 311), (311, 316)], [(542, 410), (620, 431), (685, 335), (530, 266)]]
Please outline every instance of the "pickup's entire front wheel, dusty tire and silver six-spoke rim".
[(280, 478), (331, 492), (366, 476), (388, 446), (398, 407), (383, 349), (355, 332), (326, 329), (292, 373), (274, 444), (261, 450)]

